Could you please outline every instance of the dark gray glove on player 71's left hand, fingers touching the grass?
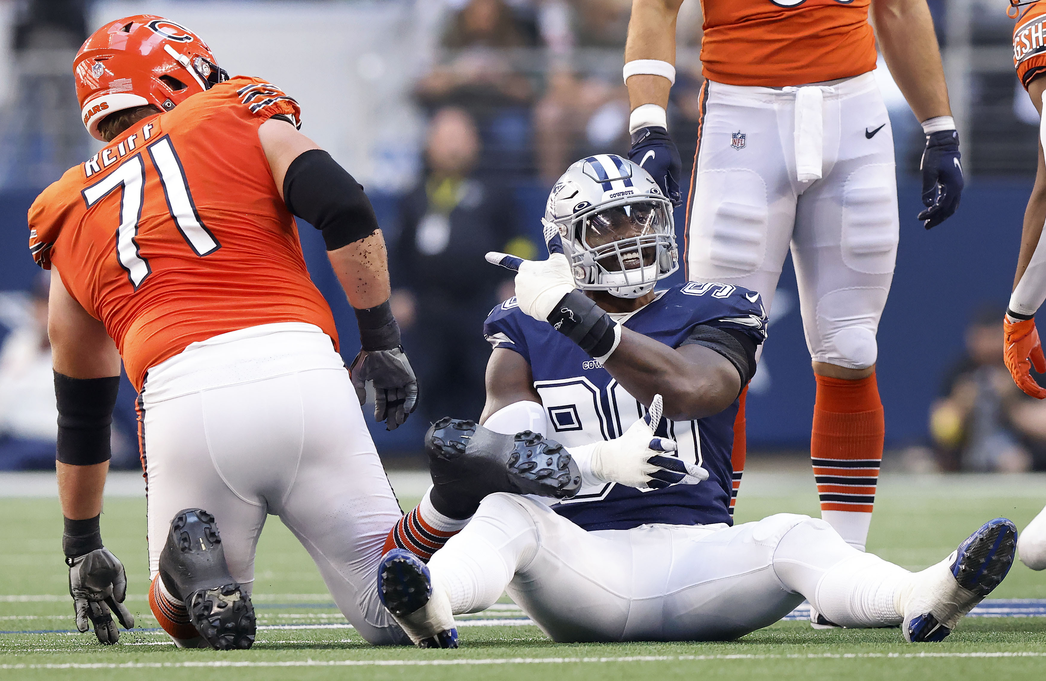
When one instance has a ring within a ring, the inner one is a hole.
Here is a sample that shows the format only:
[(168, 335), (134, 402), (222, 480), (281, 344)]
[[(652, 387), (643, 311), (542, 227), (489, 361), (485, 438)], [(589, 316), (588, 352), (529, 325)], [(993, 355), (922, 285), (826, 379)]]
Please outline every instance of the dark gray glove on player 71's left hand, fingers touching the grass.
[(84, 633), (89, 629), (88, 622), (93, 622), (98, 642), (112, 645), (119, 640), (120, 630), (113, 621), (110, 608), (124, 629), (134, 627), (134, 615), (123, 606), (128, 595), (123, 564), (103, 547), (67, 558), (66, 565), (69, 566), (69, 595), (76, 614), (76, 629)]

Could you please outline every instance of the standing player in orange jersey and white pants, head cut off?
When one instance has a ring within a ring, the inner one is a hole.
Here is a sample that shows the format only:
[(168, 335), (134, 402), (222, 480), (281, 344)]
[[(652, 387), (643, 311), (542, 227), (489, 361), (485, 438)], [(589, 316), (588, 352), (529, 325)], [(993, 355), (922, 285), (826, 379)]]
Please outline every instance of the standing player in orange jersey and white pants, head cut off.
[[(634, 0), (624, 51), (629, 157), (680, 200), (666, 130), (682, 0)], [(958, 134), (926, 0), (702, 0), (701, 128), (687, 276), (757, 291), (769, 311), (789, 248), (817, 380), (811, 455), (821, 516), (864, 549), (885, 426), (876, 331), (899, 223), (876, 42), (923, 121), (929, 229), (958, 206)], [(872, 31), (871, 23), (876, 26)], [(772, 341), (771, 341), (772, 342)], [(734, 484), (745, 464), (744, 402)]]

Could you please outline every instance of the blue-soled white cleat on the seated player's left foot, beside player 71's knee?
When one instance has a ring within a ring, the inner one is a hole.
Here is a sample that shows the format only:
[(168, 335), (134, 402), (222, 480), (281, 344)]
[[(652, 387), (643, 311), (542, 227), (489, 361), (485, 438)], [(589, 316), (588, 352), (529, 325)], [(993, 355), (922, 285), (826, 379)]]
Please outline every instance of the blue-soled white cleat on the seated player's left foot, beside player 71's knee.
[(432, 588), (429, 567), (394, 548), (378, 566), (378, 597), (418, 648), (457, 648), (450, 600)]

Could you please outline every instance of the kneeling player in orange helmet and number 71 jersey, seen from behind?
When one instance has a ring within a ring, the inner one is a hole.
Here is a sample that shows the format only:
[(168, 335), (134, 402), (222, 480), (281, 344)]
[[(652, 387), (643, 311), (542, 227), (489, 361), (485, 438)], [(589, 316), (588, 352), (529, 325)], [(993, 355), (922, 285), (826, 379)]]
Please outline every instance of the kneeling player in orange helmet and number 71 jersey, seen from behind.
[[(252, 644), (254, 547), (268, 514), (309, 550), (365, 639), (409, 642), (376, 595), (401, 512), (360, 405), (371, 382), (376, 418), (396, 428), (417, 383), (363, 188), (298, 132), (294, 99), (229, 78), (173, 21), (112, 22), (73, 66), (84, 124), (107, 144), (40, 195), (29, 245), (53, 273), (58, 477), (77, 628), (90, 620), (114, 643), (109, 609), (134, 621), (98, 522), (122, 359), (140, 393), (150, 605), (176, 643)], [(356, 309), (363, 349), (351, 378), (294, 215), (322, 231)]]

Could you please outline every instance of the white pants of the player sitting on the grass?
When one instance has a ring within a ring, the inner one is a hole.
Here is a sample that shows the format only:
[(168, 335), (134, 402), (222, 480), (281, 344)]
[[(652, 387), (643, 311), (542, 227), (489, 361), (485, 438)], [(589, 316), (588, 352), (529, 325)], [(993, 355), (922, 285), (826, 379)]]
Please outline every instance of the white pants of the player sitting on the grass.
[(507, 589), (554, 641), (730, 640), (808, 598), (844, 627), (897, 625), (911, 573), (823, 520), (585, 531), (532, 499), (494, 494), (429, 563), (455, 614)]

